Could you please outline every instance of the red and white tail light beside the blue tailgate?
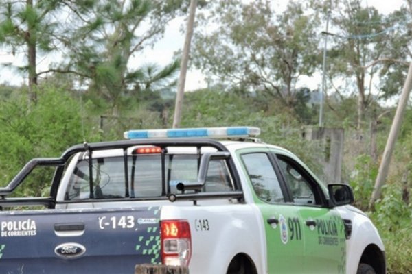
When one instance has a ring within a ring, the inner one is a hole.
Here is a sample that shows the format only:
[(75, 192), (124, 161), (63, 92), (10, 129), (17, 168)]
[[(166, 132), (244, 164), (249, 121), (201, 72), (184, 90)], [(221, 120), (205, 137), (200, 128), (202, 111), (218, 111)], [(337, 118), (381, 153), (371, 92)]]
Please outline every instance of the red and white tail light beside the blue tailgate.
[(190, 225), (185, 220), (161, 221), (161, 261), (169, 266), (188, 266), (192, 256)]

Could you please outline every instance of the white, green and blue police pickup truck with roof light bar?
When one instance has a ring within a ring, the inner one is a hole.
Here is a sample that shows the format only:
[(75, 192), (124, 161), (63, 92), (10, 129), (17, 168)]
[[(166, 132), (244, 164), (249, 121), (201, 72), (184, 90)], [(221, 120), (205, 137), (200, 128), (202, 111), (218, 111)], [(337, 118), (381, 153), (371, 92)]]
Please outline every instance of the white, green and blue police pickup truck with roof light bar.
[[(385, 273), (382, 241), (350, 206), (351, 188), (323, 186), (258, 134), (137, 130), (31, 160), (0, 188), (0, 272)], [(49, 196), (14, 197), (39, 166), (54, 169)]]

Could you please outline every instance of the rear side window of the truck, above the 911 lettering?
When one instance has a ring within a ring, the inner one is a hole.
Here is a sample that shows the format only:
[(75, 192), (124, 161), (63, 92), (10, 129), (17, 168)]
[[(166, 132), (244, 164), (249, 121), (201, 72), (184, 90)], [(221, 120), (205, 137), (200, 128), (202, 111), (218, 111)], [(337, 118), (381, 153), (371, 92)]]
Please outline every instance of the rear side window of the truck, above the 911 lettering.
[(266, 153), (249, 153), (242, 155), (253, 190), (256, 195), (268, 203), (284, 201), (273, 165)]

